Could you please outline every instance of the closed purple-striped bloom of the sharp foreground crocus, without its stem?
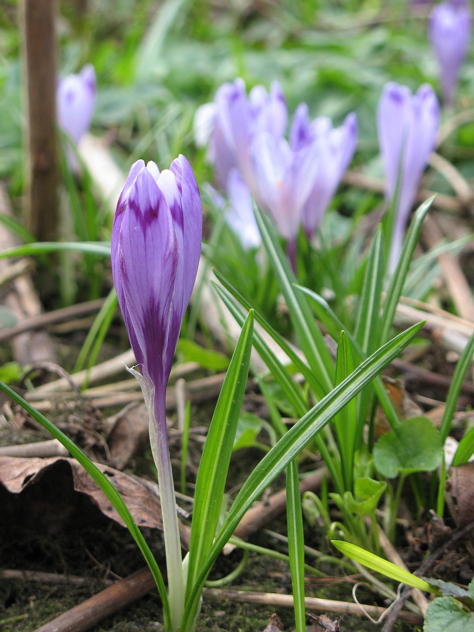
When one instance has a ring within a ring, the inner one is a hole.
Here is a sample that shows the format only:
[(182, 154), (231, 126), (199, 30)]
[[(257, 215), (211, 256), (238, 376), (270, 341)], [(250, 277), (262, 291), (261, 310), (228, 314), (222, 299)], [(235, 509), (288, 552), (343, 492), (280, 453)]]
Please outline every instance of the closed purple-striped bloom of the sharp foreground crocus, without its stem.
[(189, 163), (130, 170), (112, 227), (112, 275), (130, 344), (164, 398), (200, 253), (202, 209)]

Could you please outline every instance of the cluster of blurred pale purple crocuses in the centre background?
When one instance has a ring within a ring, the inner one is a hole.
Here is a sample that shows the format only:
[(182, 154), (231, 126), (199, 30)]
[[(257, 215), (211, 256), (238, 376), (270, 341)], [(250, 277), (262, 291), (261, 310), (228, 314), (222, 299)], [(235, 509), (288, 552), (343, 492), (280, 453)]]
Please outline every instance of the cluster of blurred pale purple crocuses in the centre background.
[(289, 141), (285, 138), (287, 123), (286, 101), (276, 82), (269, 93), (257, 85), (248, 96), (243, 80), (224, 83), (214, 102), (197, 112), (197, 141), (208, 142), (208, 157), (219, 186), (231, 198), (229, 224), (232, 228), (251, 227), (252, 239), (246, 245), (258, 243), (250, 219), (249, 191), (273, 217), (291, 250), (301, 224), (308, 238), (319, 226), (355, 152), (355, 114), (333, 128), (324, 117), (310, 121), (307, 106), (301, 104)]

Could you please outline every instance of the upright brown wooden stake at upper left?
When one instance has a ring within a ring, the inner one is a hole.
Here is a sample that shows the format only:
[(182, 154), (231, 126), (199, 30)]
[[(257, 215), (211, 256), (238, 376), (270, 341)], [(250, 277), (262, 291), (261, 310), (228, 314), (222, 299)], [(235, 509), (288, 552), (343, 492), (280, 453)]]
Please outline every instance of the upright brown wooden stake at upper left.
[(39, 241), (58, 232), (56, 0), (22, 0), (21, 30), (27, 174), (25, 226)]

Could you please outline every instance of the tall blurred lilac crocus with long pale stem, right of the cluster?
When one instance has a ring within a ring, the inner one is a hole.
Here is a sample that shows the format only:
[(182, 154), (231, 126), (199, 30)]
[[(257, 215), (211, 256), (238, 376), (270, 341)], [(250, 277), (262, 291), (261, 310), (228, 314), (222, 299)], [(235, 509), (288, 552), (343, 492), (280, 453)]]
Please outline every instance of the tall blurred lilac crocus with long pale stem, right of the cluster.
[(396, 220), (392, 234), (389, 268), (394, 270), (403, 232), (415, 202), (428, 158), (435, 148), (439, 126), (439, 103), (430, 85), (415, 95), (398, 83), (387, 83), (377, 111), (380, 151), (386, 174), (386, 196), (392, 200), (400, 171)]

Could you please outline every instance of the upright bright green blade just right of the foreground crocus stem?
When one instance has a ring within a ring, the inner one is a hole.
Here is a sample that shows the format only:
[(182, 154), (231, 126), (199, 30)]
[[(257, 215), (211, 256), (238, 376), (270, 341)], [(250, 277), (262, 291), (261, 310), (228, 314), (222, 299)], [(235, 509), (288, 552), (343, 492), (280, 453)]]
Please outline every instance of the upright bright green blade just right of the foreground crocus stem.
[(191, 522), (186, 593), (195, 585), (216, 533), (247, 383), (252, 334), (253, 312), (250, 311), (229, 364), (199, 464)]

